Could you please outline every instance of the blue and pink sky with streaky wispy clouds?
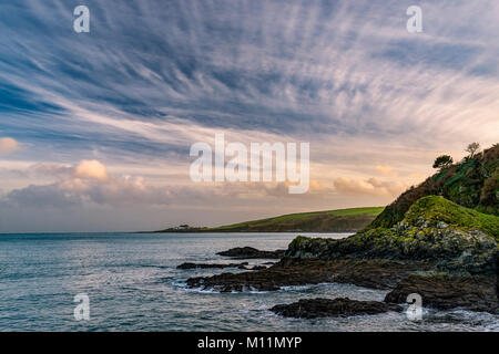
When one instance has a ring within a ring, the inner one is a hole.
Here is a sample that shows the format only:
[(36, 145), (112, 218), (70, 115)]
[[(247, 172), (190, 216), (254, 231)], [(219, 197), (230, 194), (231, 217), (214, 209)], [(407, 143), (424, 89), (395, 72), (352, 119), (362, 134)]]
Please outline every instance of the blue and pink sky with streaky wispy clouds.
[[(496, 0), (0, 0), (0, 232), (384, 206), (498, 143)], [(191, 146), (221, 133), (309, 143), (308, 191), (193, 181)]]

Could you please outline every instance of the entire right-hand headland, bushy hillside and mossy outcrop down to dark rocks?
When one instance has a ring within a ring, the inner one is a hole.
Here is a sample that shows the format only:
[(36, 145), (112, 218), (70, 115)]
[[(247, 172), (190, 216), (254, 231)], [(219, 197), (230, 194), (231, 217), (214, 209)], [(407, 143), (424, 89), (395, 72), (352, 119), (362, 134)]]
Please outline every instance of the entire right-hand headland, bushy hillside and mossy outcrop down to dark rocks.
[(383, 302), (305, 299), (272, 309), (297, 317), (389, 311), (418, 294), (422, 306), (499, 314), (499, 145), (440, 168), (345, 239), (298, 236), (287, 250), (237, 248), (221, 256), (279, 261), (251, 272), (195, 277), (187, 287), (221, 292), (352, 283), (386, 290)]

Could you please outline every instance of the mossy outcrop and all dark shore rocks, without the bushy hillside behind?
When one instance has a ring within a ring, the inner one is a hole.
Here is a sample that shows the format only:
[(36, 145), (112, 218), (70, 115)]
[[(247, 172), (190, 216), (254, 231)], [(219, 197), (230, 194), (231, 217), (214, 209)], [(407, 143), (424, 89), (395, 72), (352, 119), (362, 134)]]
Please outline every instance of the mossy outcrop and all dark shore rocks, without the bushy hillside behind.
[(428, 197), (389, 229), (366, 229), (340, 240), (297, 237), (286, 251), (244, 247), (218, 252), (232, 259), (281, 260), (265, 269), (195, 277), (186, 283), (189, 288), (220, 292), (277, 291), (289, 285), (334, 282), (389, 291), (383, 302), (303, 299), (271, 309), (284, 316), (312, 319), (398, 311), (398, 304), (406, 303), (413, 293), (421, 296), (424, 306), (499, 314), (496, 219), (485, 227), (479, 218), (471, 219), (469, 227), (469, 221), (465, 223), (457, 217), (476, 216), (456, 207), (444, 198)]

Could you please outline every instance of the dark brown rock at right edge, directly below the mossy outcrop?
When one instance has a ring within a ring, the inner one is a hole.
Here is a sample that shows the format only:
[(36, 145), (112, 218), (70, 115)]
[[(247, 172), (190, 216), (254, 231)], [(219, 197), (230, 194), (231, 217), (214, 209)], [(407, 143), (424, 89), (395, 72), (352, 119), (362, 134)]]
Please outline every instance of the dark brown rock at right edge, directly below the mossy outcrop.
[(386, 295), (385, 302), (405, 303), (410, 293), (421, 295), (424, 306), (499, 313), (497, 277), (411, 274)]

